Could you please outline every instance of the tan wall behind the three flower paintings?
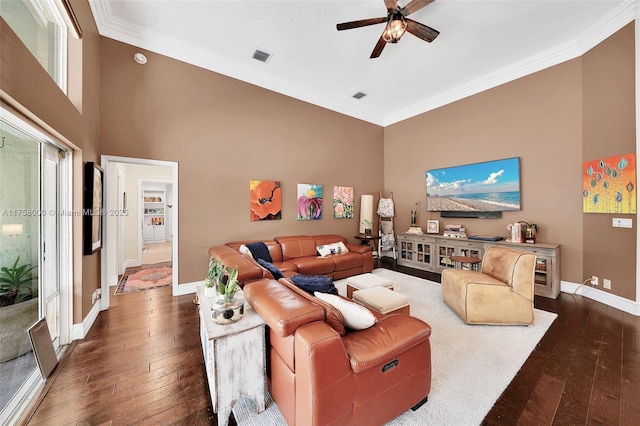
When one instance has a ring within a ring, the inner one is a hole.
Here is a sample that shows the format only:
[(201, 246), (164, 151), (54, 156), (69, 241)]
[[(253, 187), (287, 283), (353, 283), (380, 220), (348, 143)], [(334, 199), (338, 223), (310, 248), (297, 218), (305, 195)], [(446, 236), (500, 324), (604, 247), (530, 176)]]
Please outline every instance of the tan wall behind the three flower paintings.
[[(338, 233), (334, 185), (357, 200), (383, 187), (383, 129), (167, 57), (103, 39), (102, 154), (178, 162), (179, 281), (206, 275), (208, 248), (231, 240)], [(279, 180), (282, 220), (249, 221), (249, 180)], [(298, 183), (322, 184), (323, 218), (296, 220)], [(353, 240), (353, 238), (351, 238)]]

